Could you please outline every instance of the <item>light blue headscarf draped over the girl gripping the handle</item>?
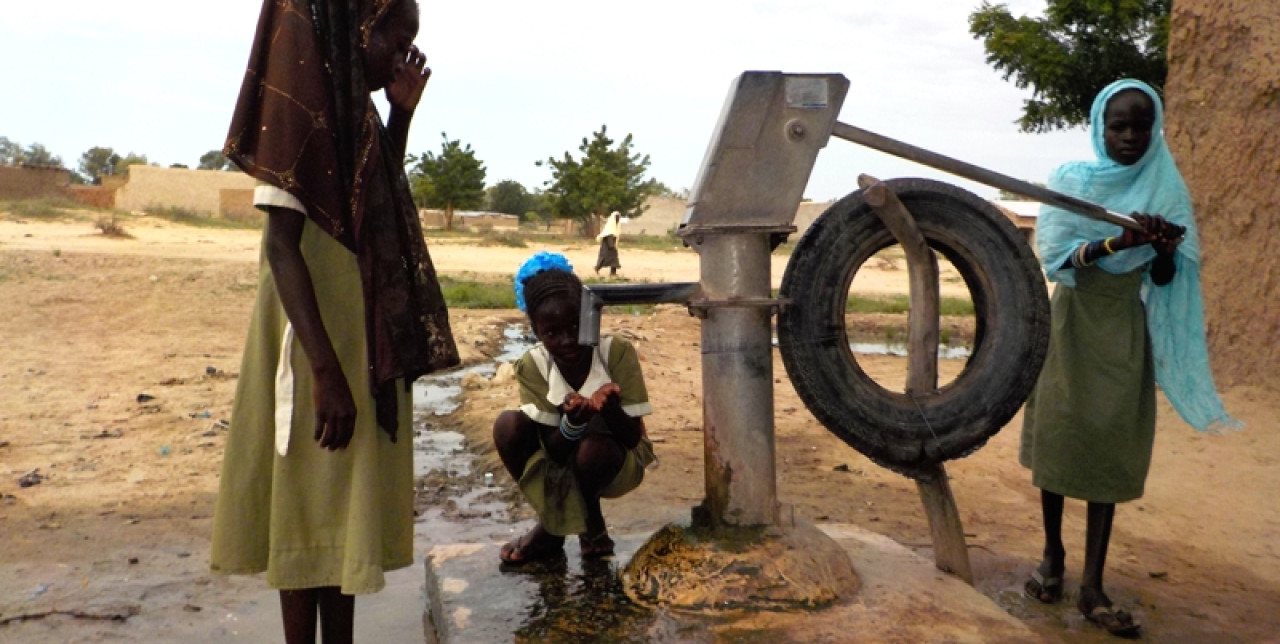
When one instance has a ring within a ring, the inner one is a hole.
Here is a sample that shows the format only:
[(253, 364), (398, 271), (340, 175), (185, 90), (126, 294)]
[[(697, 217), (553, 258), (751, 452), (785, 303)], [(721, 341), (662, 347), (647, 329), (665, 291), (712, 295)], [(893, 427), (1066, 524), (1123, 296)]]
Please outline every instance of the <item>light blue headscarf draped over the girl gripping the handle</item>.
[[(1133, 165), (1124, 165), (1107, 156), (1103, 134), (1107, 102), (1125, 90), (1139, 90), (1156, 106), (1151, 147)], [(1096, 161), (1071, 161), (1050, 175), (1048, 187), (1117, 213), (1161, 215), (1187, 229), (1178, 246), (1174, 280), (1157, 287), (1148, 270), (1143, 278), (1142, 298), (1147, 309), (1147, 330), (1156, 364), (1156, 382), (1165, 397), (1189, 425), (1199, 431), (1236, 429), (1240, 423), (1222, 407), (1213, 387), (1208, 347), (1204, 343), (1204, 306), (1199, 287), (1199, 233), (1192, 211), (1190, 193), (1178, 172), (1172, 154), (1165, 143), (1165, 110), (1156, 91), (1133, 79), (1116, 81), (1093, 100), (1089, 111), (1091, 138)], [(1078, 215), (1055, 206), (1041, 206), (1036, 224), (1036, 241), (1044, 273), (1052, 282), (1075, 286), (1075, 269), (1068, 265), (1082, 243), (1119, 237), (1124, 230), (1107, 221)], [(1151, 245), (1120, 251), (1094, 262), (1114, 273), (1129, 273), (1155, 259)]]

